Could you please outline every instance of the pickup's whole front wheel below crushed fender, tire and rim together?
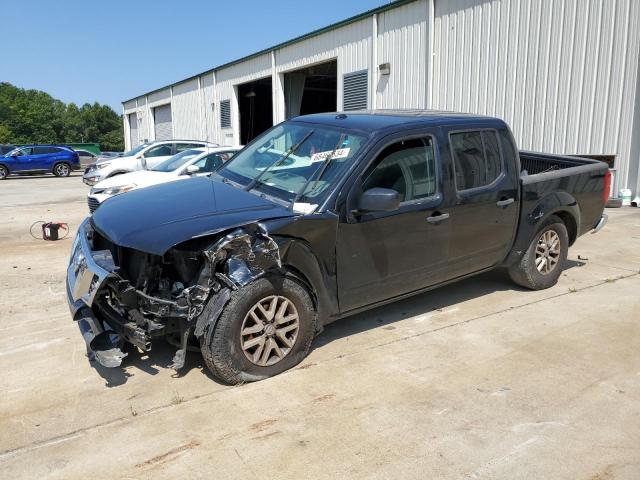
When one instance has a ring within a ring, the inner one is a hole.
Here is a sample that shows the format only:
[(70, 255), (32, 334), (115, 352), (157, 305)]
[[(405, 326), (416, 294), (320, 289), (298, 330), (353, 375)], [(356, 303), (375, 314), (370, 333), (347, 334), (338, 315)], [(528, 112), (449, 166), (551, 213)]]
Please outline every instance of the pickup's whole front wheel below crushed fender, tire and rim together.
[(216, 324), (202, 336), (205, 364), (229, 384), (278, 375), (306, 357), (316, 317), (300, 283), (280, 276), (260, 278), (235, 290)]

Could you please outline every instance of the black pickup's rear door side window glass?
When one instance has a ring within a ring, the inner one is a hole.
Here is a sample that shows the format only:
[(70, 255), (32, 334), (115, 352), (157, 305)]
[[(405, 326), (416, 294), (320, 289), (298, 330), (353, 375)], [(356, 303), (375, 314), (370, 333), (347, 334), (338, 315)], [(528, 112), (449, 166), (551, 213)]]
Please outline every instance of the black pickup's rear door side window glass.
[(452, 133), (450, 140), (458, 191), (489, 185), (502, 173), (495, 131)]

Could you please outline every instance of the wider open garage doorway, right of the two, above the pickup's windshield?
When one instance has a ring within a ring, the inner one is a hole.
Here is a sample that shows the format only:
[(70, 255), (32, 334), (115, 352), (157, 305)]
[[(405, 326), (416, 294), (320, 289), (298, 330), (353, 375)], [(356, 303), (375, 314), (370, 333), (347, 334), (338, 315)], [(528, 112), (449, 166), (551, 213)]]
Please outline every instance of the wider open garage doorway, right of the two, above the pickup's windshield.
[(338, 62), (332, 60), (284, 74), (286, 117), (335, 112), (338, 105)]

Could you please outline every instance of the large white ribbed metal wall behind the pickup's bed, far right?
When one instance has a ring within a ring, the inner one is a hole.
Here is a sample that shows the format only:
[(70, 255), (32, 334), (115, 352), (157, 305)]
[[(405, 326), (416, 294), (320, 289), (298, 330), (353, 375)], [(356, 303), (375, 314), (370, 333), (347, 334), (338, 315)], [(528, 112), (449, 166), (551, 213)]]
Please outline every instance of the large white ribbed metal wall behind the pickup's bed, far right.
[(639, 18), (635, 0), (436, 0), (430, 107), (502, 117), (524, 149), (617, 155), (626, 185)]

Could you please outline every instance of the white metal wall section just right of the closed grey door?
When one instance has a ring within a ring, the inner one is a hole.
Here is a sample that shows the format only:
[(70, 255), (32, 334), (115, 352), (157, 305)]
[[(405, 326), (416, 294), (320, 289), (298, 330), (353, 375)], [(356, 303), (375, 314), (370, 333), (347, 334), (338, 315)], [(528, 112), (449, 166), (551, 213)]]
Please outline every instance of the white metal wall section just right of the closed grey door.
[(200, 128), (200, 98), (198, 79), (179, 83), (173, 87), (171, 113), (173, 116), (173, 137), (185, 140), (202, 140)]

